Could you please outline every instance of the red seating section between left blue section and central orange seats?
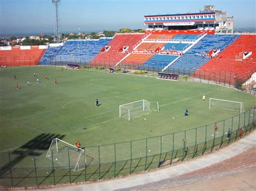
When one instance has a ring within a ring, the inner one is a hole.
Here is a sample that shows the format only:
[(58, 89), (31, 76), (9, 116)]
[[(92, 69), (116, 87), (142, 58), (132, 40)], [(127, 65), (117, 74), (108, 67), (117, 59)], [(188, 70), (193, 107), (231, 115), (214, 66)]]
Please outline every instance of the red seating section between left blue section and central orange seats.
[(132, 52), (144, 34), (116, 34), (105, 48), (92, 59), (92, 65), (114, 66), (122, 60), (127, 53)]

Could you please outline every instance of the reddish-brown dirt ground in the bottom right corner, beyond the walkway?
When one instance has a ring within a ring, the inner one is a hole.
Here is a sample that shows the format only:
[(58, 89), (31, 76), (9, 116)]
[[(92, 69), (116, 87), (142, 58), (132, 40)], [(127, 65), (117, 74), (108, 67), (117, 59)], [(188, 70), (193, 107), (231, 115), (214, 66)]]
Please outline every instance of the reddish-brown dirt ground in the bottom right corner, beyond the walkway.
[(198, 171), (121, 190), (256, 190), (256, 146)]

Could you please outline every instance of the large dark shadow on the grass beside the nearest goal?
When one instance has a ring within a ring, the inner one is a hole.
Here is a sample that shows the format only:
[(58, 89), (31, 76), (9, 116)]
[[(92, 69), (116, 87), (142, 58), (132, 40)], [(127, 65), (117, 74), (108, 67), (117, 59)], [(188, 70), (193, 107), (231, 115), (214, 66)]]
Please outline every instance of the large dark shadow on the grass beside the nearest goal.
[[(9, 152), (11, 155), (18, 155), (16, 158), (9, 158), (9, 162), (3, 165), (0, 169), (0, 178), (3, 178), (5, 175), (9, 173), (11, 168), (14, 168), (19, 162), (21, 162), (24, 158), (28, 156), (38, 157), (43, 154), (46, 150), (49, 149), (51, 141), (53, 138), (58, 137), (62, 139), (65, 135), (56, 135), (50, 133), (41, 133), (37, 137), (29, 140), (29, 142), (25, 143), (21, 147), (16, 150)], [(20, 182), (18, 182), (20, 183)]]

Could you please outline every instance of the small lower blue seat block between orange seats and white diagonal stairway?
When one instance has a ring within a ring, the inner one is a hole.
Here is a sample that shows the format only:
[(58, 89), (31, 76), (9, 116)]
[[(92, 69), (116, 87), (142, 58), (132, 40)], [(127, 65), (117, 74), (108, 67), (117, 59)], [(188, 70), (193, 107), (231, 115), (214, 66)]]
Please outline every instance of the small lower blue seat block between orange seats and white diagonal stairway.
[(139, 69), (159, 72), (177, 57), (177, 55), (157, 54), (147, 60), (142, 66), (139, 66)]

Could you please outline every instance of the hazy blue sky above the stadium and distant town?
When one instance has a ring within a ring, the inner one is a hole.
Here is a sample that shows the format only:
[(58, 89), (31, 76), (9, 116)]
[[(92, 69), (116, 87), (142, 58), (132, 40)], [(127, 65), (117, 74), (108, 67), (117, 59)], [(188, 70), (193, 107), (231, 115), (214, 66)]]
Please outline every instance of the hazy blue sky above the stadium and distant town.
[[(256, 0), (60, 0), (62, 32), (145, 29), (144, 15), (187, 13), (215, 5), (234, 16), (234, 27), (256, 27)], [(0, 34), (53, 33), (52, 0), (0, 0)]]

